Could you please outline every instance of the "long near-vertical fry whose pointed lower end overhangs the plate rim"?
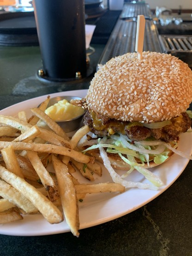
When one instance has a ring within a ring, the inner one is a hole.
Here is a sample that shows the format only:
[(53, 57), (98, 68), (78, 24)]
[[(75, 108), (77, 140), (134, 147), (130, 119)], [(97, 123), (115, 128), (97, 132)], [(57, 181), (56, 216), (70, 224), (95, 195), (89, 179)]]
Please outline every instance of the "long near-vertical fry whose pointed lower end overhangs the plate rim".
[(72, 176), (68, 172), (67, 166), (63, 164), (63, 162), (61, 162), (54, 155), (52, 156), (52, 162), (54, 165), (54, 170), (58, 181), (61, 204), (66, 218), (66, 223), (69, 225), (72, 234), (78, 237), (78, 200), (76, 196), (76, 190), (72, 182)]

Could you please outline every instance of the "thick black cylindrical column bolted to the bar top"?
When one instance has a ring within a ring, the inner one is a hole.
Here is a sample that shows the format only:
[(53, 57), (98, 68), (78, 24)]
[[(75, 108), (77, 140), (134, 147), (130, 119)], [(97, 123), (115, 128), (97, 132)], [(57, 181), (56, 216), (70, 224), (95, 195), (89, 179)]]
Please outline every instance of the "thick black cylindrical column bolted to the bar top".
[(42, 69), (47, 81), (70, 81), (87, 73), (84, 0), (33, 0)]

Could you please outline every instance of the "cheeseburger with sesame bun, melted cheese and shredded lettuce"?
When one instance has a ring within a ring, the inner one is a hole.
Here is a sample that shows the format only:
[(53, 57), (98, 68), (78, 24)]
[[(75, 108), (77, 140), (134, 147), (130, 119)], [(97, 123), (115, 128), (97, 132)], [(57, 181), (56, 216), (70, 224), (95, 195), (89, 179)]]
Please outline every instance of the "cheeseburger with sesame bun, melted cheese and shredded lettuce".
[[(101, 148), (116, 169), (160, 165), (177, 152), (181, 133), (191, 127), (192, 70), (170, 54), (127, 53), (95, 73), (87, 95), (76, 104), (86, 109), (90, 133), (84, 151), (104, 162)], [(106, 156), (105, 154), (105, 156)]]

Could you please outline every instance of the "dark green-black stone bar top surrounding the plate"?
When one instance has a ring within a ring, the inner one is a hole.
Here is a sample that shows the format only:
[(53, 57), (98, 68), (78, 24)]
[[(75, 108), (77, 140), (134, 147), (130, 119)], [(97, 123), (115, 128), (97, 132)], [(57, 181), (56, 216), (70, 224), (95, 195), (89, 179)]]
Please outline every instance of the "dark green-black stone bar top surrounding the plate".
[[(94, 73), (104, 45), (92, 46), (96, 49), (90, 56)], [(43, 84), (36, 78), (39, 67), (38, 46), (0, 47), (0, 110), (44, 94), (86, 89), (92, 78)], [(70, 232), (36, 237), (0, 235), (0, 255), (191, 256), (192, 162), (162, 195), (132, 213), (80, 230), (79, 238)]]

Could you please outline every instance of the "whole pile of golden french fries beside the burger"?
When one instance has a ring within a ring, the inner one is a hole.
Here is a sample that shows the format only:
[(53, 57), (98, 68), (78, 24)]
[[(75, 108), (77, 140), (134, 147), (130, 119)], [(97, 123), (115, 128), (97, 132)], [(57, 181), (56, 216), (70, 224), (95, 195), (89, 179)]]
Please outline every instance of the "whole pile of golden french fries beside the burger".
[[(69, 138), (45, 114), (49, 100), (31, 109), (30, 118), (25, 111), (17, 117), (0, 115), (0, 224), (21, 220), (25, 214), (42, 214), (51, 224), (65, 219), (78, 237), (78, 208), (85, 195), (122, 193), (125, 187), (86, 183), (86, 179), (94, 181), (95, 174), (102, 176), (95, 159), (77, 147), (89, 128), (84, 126)], [(52, 171), (48, 171), (50, 166)], [(85, 183), (74, 177), (76, 171)]]

